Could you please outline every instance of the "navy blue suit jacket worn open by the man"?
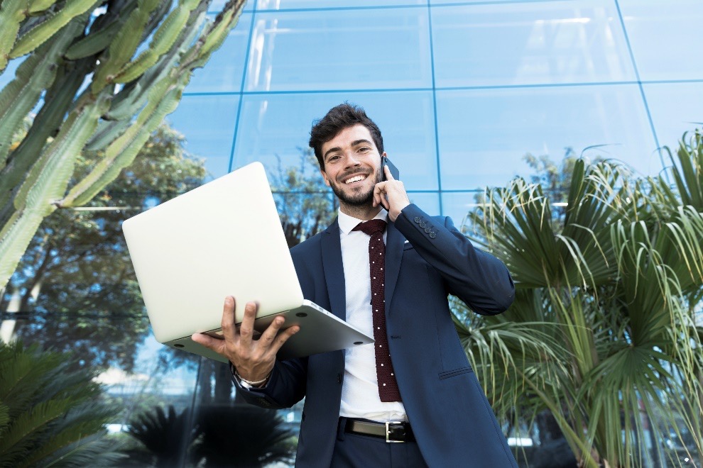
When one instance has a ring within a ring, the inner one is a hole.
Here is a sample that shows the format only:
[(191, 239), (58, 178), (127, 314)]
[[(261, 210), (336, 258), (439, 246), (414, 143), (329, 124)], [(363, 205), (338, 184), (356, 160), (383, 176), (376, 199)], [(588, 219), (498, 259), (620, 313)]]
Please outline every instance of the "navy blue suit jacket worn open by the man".
[[(346, 318), (337, 221), (290, 253), (305, 299)], [(514, 287), (503, 263), (475, 249), (450, 218), (432, 218), (411, 204), (388, 223), (385, 294), (393, 369), (425, 462), (517, 467), (447, 302), (447, 294), (454, 294), (478, 313), (505, 311)], [(340, 350), (277, 361), (266, 387), (239, 388), (247, 401), (266, 408), (288, 408), (305, 396), (296, 466), (329, 467), (343, 377)]]

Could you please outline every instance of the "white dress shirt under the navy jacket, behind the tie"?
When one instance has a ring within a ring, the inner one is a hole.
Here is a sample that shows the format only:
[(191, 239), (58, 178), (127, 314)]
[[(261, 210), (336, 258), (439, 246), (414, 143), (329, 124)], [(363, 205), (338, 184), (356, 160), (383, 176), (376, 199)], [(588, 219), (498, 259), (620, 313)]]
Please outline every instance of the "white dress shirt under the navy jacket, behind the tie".
[[(388, 222), (388, 211), (381, 209), (374, 219)], [(374, 336), (369, 279), (369, 235), (353, 231), (360, 219), (339, 211), (339, 237), (342, 241), (344, 286), (347, 297), (347, 322), (366, 335)], [(386, 242), (386, 232), (383, 233)], [(344, 382), (339, 416), (379, 422), (406, 421), (400, 401), (383, 402), (378, 396), (374, 345), (348, 348), (344, 354)]]

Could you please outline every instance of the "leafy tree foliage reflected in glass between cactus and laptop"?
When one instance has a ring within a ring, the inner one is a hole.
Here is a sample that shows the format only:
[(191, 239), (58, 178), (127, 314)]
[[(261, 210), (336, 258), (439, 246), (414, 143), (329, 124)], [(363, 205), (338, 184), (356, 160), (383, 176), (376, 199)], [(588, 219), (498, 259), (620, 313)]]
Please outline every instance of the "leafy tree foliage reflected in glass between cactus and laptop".
[[(13, 316), (28, 319), (18, 321), (18, 337), (75, 350), (82, 365), (131, 370), (148, 319), (121, 221), (125, 211), (141, 211), (204, 182), (204, 162), (182, 144), (182, 135), (161, 126), (88, 211), (63, 209), (45, 218), (11, 279), (10, 292), (21, 296)], [(73, 178), (85, 177), (98, 158), (80, 156)]]

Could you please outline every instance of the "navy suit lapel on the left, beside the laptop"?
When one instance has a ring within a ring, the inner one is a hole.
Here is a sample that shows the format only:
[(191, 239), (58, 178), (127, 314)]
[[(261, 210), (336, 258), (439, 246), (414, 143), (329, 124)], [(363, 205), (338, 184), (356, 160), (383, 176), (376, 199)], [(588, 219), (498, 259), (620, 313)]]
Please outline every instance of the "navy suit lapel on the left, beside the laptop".
[(342, 263), (342, 243), (339, 240), (337, 219), (322, 235), (322, 269), (325, 270), (325, 284), (329, 306), (335, 316), (347, 320), (347, 296), (344, 293), (344, 264)]

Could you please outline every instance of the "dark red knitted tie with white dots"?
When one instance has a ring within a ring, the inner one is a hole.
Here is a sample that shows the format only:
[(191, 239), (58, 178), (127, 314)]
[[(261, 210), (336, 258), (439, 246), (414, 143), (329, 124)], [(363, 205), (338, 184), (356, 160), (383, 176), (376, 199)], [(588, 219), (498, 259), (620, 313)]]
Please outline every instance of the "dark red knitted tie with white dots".
[(376, 343), (376, 377), (378, 378), (378, 395), (381, 401), (400, 401), (398, 382), (391, 364), (386, 335), (385, 291), (386, 244), (383, 243), (383, 230), (386, 221), (372, 219), (359, 223), (354, 230), (360, 230), (371, 236), (369, 240), (369, 265), (371, 272), (371, 311), (374, 316), (374, 340)]

